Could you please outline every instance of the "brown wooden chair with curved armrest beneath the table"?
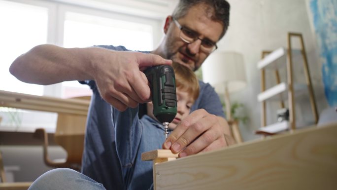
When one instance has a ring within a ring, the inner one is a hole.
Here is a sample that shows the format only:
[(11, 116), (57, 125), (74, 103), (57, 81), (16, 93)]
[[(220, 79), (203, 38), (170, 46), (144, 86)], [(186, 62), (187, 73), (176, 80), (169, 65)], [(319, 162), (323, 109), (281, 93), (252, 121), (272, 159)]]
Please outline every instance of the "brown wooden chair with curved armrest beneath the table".
[[(80, 98), (90, 100), (90, 97)], [(48, 155), (47, 132), (43, 128), (35, 130), (34, 137), (43, 141), (43, 159), (47, 166), (66, 167), (80, 171), (86, 118), (86, 115), (58, 113), (54, 140), (67, 152), (65, 159), (51, 160)]]

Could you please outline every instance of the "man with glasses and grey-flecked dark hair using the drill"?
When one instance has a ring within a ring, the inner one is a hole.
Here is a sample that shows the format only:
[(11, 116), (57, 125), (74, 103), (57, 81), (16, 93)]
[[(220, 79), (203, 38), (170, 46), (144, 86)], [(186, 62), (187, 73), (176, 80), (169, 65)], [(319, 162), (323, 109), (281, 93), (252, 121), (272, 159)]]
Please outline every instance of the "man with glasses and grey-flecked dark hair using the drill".
[[(148, 66), (171, 63), (165, 59), (197, 70), (216, 49), (216, 42), (226, 33), (228, 24), (229, 4), (225, 0), (180, 0), (172, 16), (166, 19), (165, 38), (151, 52), (157, 55), (125, 52), (127, 49), (122, 46), (67, 49), (39, 45), (18, 57), (10, 72), (29, 83), (46, 85), (85, 80), (90, 85), (94, 93), (88, 113), (82, 172), (107, 190), (124, 189), (109, 104), (124, 111), (148, 102), (150, 88), (142, 71)], [(192, 113), (163, 144), (164, 149), (172, 152), (183, 150), (179, 153), (181, 157), (227, 146), (231, 140), (218, 96), (208, 84), (201, 82), (200, 87), (200, 97)]]

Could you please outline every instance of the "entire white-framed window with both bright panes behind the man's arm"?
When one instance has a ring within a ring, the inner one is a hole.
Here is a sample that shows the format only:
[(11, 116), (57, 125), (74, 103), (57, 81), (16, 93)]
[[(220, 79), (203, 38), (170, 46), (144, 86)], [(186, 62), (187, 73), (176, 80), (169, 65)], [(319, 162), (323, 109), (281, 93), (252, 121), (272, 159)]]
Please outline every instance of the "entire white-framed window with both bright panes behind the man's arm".
[[(79, 2), (80, 3), (80, 2)], [(77, 81), (35, 85), (19, 81), (8, 69), (22, 53), (38, 44), (64, 47), (124, 45), (131, 50), (152, 50), (162, 35), (156, 19), (50, 0), (0, 0), (0, 90), (62, 98), (91, 94)], [(154, 30), (155, 28), (155, 30)], [(157, 31), (157, 32), (154, 32)], [(0, 130), (33, 132), (43, 126), (55, 130), (57, 114), (0, 107)], [(2, 121), (1, 121), (2, 120)]]

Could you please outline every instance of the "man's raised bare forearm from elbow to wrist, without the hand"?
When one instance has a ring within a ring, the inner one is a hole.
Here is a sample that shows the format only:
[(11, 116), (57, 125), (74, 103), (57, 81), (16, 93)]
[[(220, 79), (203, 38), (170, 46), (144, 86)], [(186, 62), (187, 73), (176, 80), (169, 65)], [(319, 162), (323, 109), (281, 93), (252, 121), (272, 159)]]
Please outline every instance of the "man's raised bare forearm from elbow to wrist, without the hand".
[(9, 71), (21, 81), (44, 85), (93, 79), (89, 51), (89, 48), (38, 45), (19, 56)]

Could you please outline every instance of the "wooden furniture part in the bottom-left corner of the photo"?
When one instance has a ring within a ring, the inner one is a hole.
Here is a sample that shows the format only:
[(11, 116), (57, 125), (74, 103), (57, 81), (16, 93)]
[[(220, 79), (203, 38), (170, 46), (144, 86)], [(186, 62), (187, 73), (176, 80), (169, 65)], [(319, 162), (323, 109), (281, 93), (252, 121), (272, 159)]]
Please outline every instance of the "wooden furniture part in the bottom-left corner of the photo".
[(6, 180), (3, 162), (2, 162), (2, 155), (0, 152), (0, 190), (27, 190), (32, 182), (15, 182), (15, 183), (8, 183)]

